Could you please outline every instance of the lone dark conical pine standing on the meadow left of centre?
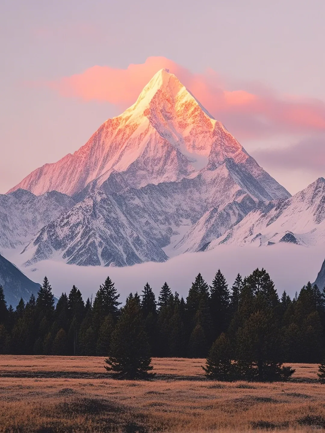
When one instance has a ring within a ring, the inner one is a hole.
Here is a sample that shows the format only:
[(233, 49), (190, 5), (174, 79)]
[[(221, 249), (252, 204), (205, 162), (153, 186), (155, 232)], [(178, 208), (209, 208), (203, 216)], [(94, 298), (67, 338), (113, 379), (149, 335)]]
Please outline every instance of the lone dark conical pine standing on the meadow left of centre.
[(143, 317), (135, 297), (129, 297), (112, 334), (105, 368), (125, 379), (147, 378), (153, 369)]

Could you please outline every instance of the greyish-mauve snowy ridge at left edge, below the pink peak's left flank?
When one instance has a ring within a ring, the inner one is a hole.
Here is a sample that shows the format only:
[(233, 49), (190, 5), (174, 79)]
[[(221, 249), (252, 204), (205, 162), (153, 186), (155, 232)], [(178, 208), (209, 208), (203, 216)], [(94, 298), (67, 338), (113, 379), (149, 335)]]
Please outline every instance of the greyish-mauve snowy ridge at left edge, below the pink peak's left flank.
[(71, 197), (56, 191), (36, 196), (18, 189), (0, 195), (0, 248), (26, 244), (43, 226), (74, 204)]

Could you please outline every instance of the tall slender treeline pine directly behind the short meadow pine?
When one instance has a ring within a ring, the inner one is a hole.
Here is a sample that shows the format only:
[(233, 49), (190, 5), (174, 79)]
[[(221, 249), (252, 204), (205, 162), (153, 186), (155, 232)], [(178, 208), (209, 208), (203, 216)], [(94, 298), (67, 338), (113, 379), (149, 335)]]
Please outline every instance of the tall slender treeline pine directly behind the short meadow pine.
[(210, 287), (210, 312), (213, 323), (213, 339), (229, 326), (230, 294), (226, 279), (218, 269)]

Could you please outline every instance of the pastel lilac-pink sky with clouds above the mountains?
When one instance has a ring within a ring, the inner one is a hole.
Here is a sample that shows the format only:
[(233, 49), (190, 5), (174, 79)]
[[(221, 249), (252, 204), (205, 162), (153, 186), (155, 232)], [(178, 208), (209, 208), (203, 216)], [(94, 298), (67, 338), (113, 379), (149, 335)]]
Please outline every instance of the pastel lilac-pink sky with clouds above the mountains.
[(324, 0), (2, 0), (0, 193), (169, 68), (273, 177), (325, 177)]

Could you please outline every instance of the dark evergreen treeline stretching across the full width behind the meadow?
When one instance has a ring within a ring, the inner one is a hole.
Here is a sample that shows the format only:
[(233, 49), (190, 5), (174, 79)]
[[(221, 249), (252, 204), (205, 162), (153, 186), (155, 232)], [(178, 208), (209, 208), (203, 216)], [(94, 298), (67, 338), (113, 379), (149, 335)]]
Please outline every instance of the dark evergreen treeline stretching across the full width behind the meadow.
[[(123, 341), (130, 346), (136, 322), (140, 328), (134, 338), (147, 345), (148, 356), (208, 357), (207, 374), (216, 359), (224, 359), (223, 364), (218, 361), (220, 374), (228, 374), (230, 360), (231, 365), (238, 360), (238, 374), (252, 363), (263, 369), (324, 357), (324, 291), (308, 283), (299, 296), (290, 299), (284, 292), (279, 299), (264, 269), (244, 279), (237, 275), (231, 289), (220, 270), (211, 285), (199, 274), (186, 300), (167, 283), (158, 299), (149, 284), (140, 295), (130, 294), (124, 307), (119, 297), (107, 278), (93, 302), (88, 298), (84, 303), (73, 286), (55, 306), (45, 278), (37, 299), (32, 295), (26, 305), (21, 299), (14, 310), (0, 288), (0, 353), (111, 356)], [(127, 318), (131, 310), (133, 322)], [(128, 323), (124, 327), (122, 320)]]

